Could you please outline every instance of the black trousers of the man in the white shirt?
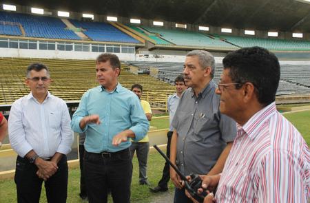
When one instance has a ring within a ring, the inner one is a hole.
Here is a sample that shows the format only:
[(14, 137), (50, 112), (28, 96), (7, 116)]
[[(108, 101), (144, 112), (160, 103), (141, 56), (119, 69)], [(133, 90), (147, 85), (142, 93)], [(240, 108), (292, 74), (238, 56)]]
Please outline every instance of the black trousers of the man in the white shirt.
[[(65, 203), (67, 200), (68, 163), (63, 156), (58, 163), (58, 170), (44, 182), (48, 202)], [(36, 174), (38, 168), (30, 164), (27, 158), (17, 156), (14, 181), (17, 185), (17, 202), (39, 203), (43, 179)]]

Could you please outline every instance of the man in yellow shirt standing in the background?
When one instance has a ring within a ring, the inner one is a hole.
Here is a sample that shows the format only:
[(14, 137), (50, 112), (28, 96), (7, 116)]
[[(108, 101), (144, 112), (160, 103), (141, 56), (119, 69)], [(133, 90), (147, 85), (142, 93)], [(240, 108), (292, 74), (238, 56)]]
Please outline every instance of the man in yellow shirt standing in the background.
[[(141, 106), (147, 117), (147, 120), (152, 120), (152, 110), (151, 106), (146, 100), (141, 100), (143, 87), (140, 84), (132, 85), (132, 92), (138, 96), (141, 102)], [(132, 142), (130, 146), (130, 152), (132, 154), (132, 158), (134, 157), (134, 151), (136, 151), (136, 157), (138, 158), (139, 163), (139, 182), (141, 185), (146, 184), (149, 186), (149, 182), (147, 180), (147, 156), (149, 154), (149, 137), (145, 136), (142, 140), (138, 142)]]

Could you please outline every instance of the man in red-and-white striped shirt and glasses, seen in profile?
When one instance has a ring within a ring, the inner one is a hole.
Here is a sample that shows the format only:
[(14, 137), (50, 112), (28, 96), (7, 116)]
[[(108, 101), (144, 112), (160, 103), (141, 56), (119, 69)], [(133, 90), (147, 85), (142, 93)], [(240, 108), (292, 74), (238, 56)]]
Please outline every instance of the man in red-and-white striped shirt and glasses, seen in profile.
[(204, 177), (205, 189), (218, 184), (215, 198), (207, 195), (205, 202), (307, 202), (309, 148), (276, 110), (278, 58), (261, 47), (242, 48), (223, 65), (216, 93), (238, 133), (223, 173)]

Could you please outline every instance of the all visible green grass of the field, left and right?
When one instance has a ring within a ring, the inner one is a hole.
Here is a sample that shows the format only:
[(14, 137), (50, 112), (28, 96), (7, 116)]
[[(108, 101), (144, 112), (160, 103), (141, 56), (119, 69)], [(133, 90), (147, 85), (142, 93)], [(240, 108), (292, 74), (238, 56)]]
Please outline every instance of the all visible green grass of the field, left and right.
[[(295, 125), (306, 140), (308, 146), (310, 145), (310, 110), (309, 111), (300, 111), (291, 114), (284, 114), (284, 116), (290, 120), (293, 125)], [(151, 121), (151, 125), (158, 127), (158, 129), (168, 128), (169, 120), (165, 119), (154, 119)], [(134, 163), (134, 173), (132, 178), (132, 199), (131, 202), (151, 202), (156, 199), (154, 193), (149, 192), (147, 186), (140, 186), (138, 184), (138, 163), (136, 158), (133, 160)], [(158, 180), (161, 178), (161, 171), (163, 170), (163, 165), (165, 161), (156, 153), (156, 151), (151, 151), (149, 153), (149, 162), (148, 162), (148, 177), (149, 182), (153, 186), (156, 186)], [(68, 185), (68, 202), (83, 202), (79, 198), (79, 169), (72, 169), (69, 171), (69, 185)], [(172, 190), (173, 186), (170, 182), (169, 189)], [(0, 202), (1, 203), (12, 203), (17, 202), (16, 189), (14, 180), (0, 180)], [(41, 194), (41, 201), (46, 202), (45, 193)], [(112, 201), (110, 201), (112, 202)]]

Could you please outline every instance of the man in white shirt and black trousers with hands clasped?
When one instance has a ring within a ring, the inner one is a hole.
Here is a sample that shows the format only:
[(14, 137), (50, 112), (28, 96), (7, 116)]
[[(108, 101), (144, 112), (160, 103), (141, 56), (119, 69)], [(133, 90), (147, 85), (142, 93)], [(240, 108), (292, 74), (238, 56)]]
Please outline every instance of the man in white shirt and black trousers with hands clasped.
[(10, 144), (17, 152), (15, 183), (17, 202), (39, 202), (42, 182), (48, 202), (66, 202), (68, 164), (66, 154), (74, 140), (65, 102), (48, 92), (48, 67), (33, 63), (25, 84), (30, 94), (10, 109)]

